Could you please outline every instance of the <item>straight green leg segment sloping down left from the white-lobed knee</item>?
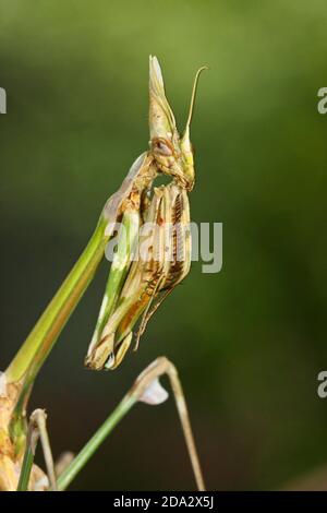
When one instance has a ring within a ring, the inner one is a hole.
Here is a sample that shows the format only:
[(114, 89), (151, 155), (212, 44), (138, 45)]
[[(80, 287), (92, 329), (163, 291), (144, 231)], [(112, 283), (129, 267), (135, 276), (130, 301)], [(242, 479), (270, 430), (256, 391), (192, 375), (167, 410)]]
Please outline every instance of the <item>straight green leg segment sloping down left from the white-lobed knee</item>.
[(73, 460), (73, 462), (59, 476), (58, 490), (63, 491), (69, 487), (69, 485), (73, 481), (80, 470), (82, 470), (82, 468), (86, 465), (99, 445), (121, 421), (121, 419), (130, 411), (135, 403), (136, 397), (133, 397), (130, 394), (123, 397), (112, 414), (107, 418), (107, 420), (105, 420), (102, 426), (100, 426), (100, 428), (95, 432), (92, 439)]

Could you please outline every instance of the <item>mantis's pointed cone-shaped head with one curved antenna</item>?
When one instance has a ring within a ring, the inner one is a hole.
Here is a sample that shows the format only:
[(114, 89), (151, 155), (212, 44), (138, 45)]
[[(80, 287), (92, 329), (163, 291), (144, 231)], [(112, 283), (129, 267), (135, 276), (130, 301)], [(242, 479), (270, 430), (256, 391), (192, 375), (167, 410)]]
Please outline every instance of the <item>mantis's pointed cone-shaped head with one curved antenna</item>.
[(173, 112), (166, 98), (161, 69), (156, 57), (149, 58), (149, 131), (150, 152), (157, 167), (187, 191), (194, 186), (194, 158), (190, 141), (190, 124), (195, 102), (196, 86), (201, 68), (194, 79), (190, 112), (182, 138), (180, 136)]

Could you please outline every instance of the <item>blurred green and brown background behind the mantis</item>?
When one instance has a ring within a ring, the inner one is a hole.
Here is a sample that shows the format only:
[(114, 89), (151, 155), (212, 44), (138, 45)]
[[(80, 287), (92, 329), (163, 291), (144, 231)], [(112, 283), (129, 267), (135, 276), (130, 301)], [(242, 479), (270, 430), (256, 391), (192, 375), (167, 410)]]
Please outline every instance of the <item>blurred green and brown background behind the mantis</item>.
[[(148, 55), (180, 127), (195, 70), (192, 217), (223, 223), (112, 373), (83, 358), (105, 262), (39, 375), (55, 453), (78, 451), (154, 358), (175, 362), (210, 489), (279, 488), (327, 463), (325, 0), (0, 0), (1, 369), (147, 148)], [(40, 460), (41, 462), (41, 460)], [(326, 478), (327, 482), (327, 478)], [(136, 407), (73, 489), (190, 489), (172, 402)]]

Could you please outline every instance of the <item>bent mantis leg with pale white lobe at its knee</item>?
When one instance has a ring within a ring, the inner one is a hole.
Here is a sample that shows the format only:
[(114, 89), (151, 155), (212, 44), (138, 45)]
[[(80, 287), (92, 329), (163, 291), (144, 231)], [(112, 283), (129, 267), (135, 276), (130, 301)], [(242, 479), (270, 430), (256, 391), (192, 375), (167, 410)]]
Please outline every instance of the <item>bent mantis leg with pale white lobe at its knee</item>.
[(69, 485), (86, 465), (88, 460), (100, 446), (100, 444), (106, 440), (106, 438), (111, 433), (111, 431), (122, 420), (122, 418), (130, 411), (132, 406), (134, 406), (137, 402), (156, 405), (166, 401), (168, 394), (158, 382), (158, 378), (162, 374), (167, 374), (171, 383), (197, 489), (199, 491), (205, 490), (205, 484), (191, 428), (183, 389), (175, 367), (166, 357), (157, 358), (138, 375), (133, 386), (122, 398), (112, 414), (107, 418), (107, 420), (105, 420), (102, 426), (100, 426), (100, 428), (95, 432), (92, 439), (73, 460), (73, 462), (59, 476), (59, 490), (65, 490), (69, 487)]

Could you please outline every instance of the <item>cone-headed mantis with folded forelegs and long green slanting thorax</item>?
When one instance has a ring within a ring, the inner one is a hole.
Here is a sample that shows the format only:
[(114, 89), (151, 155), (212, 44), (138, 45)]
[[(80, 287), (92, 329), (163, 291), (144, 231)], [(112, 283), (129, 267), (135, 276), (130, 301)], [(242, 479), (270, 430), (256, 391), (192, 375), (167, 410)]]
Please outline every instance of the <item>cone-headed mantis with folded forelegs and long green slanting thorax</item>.
[[(196, 74), (186, 128), (180, 138), (173, 112), (166, 98), (159, 63), (155, 57), (150, 57), (149, 63), (149, 150), (135, 160), (119, 191), (107, 201), (85, 250), (3, 373), (5, 385), (0, 392), (0, 490), (13, 489), (17, 482), (26, 446), (26, 405), (35, 378), (92, 282), (104, 258), (106, 246), (113, 236), (116, 223), (122, 223), (130, 235), (130, 242), (128, 246), (118, 244), (86, 358), (89, 368), (117, 368), (131, 345), (134, 324), (142, 318), (136, 337), (137, 345), (138, 336), (152, 313), (189, 273), (191, 240), (190, 234), (184, 234), (182, 228), (187, 227), (190, 222), (187, 192), (194, 184), (190, 123), (197, 79), (204, 68)], [(153, 182), (159, 174), (171, 177), (171, 182), (165, 187), (153, 188)], [(149, 259), (146, 262), (131, 262), (134, 243), (140, 238), (140, 226), (145, 222), (156, 225), (147, 250)], [(170, 237), (167, 252), (164, 228), (169, 223), (180, 225), (182, 236), (179, 248), (177, 235)], [(161, 367), (160, 363), (159, 373)], [(167, 362), (164, 368), (171, 370)], [(179, 394), (178, 390), (177, 397)], [(135, 401), (133, 398), (131, 402), (129, 398), (129, 407)], [(182, 404), (181, 416), (184, 410)], [(191, 440), (189, 426), (186, 431), (186, 439)], [(194, 451), (192, 440), (187, 444), (191, 452)], [(26, 451), (29, 449), (27, 446)], [(27, 460), (33, 462), (26, 451)], [(38, 468), (31, 466), (29, 470), (31, 476), (35, 474), (35, 479), (38, 480)]]

